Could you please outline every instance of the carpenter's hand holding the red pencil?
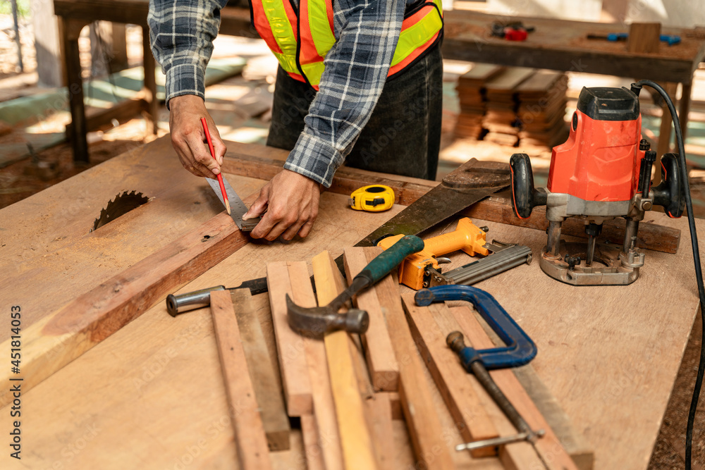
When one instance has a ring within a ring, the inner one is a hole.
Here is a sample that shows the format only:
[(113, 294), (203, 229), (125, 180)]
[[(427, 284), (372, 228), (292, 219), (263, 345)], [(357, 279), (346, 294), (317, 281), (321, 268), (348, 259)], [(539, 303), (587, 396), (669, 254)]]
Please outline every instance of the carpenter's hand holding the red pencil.
[[(226, 147), (220, 138), (218, 129), (200, 97), (195, 94), (183, 94), (169, 100), (169, 128), (171, 128), (171, 145), (176, 150), (181, 164), (196, 176), (215, 178), (220, 173)], [(206, 118), (211, 133), (216, 160), (211, 156), (203, 132), (201, 118)]]

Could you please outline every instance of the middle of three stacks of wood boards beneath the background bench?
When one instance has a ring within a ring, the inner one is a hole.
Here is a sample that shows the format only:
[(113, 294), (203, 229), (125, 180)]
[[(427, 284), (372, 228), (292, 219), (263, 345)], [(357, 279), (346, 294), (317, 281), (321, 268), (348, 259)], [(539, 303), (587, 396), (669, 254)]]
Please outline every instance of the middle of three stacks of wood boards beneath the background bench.
[(519, 142), (515, 89), (534, 75), (534, 70), (525, 67), (507, 68), (486, 83), (487, 112), (482, 127), (489, 132), (484, 140), (511, 146)]

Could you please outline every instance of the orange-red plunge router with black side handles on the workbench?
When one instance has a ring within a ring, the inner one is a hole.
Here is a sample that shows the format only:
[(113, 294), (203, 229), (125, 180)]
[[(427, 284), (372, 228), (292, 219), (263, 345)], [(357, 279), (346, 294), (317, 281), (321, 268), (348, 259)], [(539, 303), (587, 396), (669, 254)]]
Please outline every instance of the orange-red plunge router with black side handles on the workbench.
[[(681, 216), (685, 199), (677, 154), (661, 157), (662, 182), (651, 187), (656, 151), (642, 138), (638, 89), (583, 88), (572, 115), (570, 136), (553, 147), (546, 189), (534, 189), (527, 154), (513, 154), (512, 199), (515, 215), (528, 218), (546, 206), (548, 240), (539, 265), (552, 278), (572, 285), (627, 285), (639, 277), (644, 253), (637, 230), (644, 213), (663, 206)], [(582, 218), (587, 246), (560, 240), (568, 217)], [(604, 221), (626, 220), (622, 247), (597, 245)]]

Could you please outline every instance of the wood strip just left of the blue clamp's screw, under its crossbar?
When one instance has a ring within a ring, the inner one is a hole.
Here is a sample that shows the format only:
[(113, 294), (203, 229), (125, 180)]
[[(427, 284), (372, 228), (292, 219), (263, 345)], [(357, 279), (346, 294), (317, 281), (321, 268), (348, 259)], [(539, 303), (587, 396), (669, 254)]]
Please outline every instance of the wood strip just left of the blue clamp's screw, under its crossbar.
[[(411, 334), (462, 438), (470, 443), (498, 437), (494, 423), (474, 392), (470, 376), (459, 366), (458, 357), (446, 345), (444, 330), (439, 328), (435, 315), (431, 314), (435, 306), (417, 307), (414, 293), (403, 295), (402, 300)], [(497, 449), (483, 447), (470, 453), (472, 457), (486, 457), (496, 455)]]

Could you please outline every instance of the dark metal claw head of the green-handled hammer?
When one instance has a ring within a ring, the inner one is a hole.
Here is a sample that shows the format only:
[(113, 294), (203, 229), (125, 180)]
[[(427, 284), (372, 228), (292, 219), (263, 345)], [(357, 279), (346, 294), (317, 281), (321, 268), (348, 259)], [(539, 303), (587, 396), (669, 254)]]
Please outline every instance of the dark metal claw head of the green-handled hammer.
[(367, 311), (350, 309), (344, 314), (338, 314), (338, 311), (333, 311), (330, 306), (306, 309), (295, 304), (288, 294), (286, 310), (291, 329), (312, 338), (322, 338), (326, 333), (335, 330), (364, 333), (369, 326)]

